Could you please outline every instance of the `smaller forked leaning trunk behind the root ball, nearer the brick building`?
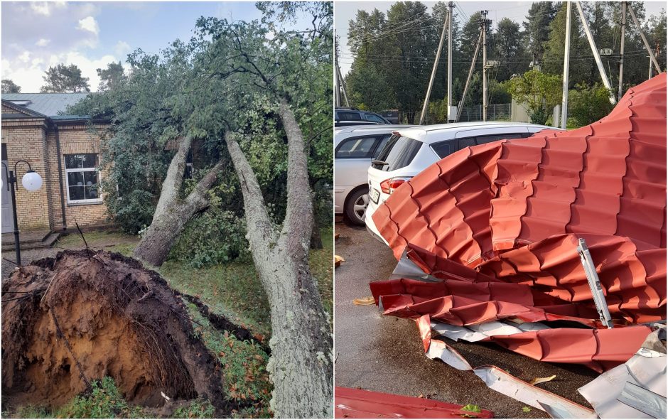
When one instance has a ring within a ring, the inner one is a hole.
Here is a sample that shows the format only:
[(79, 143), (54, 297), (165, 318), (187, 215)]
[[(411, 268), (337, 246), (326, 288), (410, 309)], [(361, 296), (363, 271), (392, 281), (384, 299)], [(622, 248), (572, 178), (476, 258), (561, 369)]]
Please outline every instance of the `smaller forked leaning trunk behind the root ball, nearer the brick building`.
[(222, 168), (222, 162), (202, 178), (193, 191), (181, 200), (179, 191), (183, 184), (183, 173), (185, 172), (185, 158), (192, 139), (185, 137), (178, 147), (176, 155), (172, 158), (167, 176), (163, 181), (160, 199), (156, 211), (153, 213), (151, 226), (141, 237), (141, 241), (134, 249), (134, 257), (141, 259), (153, 266), (161, 266), (171, 250), (174, 242), (181, 235), (185, 224), (195, 215), (208, 207), (206, 190), (216, 181), (217, 172)]

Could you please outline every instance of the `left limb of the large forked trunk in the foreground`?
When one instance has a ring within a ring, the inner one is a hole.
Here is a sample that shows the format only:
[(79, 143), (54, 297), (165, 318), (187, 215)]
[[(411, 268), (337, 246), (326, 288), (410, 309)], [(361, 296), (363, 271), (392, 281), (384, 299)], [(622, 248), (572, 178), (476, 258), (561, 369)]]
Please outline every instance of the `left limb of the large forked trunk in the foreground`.
[(266, 214), (262, 190), (244, 152), (235, 140), (234, 134), (226, 133), (225, 142), (227, 143), (227, 150), (230, 151), (232, 163), (235, 165), (244, 196), (248, 242), (252, 249), (266, 254), (266, 247), (269, 242), (275, 242), (276, 240), (276, 232), (271, 220), (269, 220), (269, 215)]

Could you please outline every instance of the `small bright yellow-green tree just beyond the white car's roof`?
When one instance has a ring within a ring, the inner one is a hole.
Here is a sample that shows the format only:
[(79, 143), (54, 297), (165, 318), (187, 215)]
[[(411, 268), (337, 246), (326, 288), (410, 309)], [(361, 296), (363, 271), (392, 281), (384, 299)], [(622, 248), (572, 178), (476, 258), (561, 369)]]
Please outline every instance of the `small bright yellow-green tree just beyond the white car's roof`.
[(552, 109), (561, 102), (561, 77), (548, 75), (538, 70), (529, 70), (524, 75), (512, 77), (505, 82), (512, 97), (527, 108), (534, 124), (545, 124)]

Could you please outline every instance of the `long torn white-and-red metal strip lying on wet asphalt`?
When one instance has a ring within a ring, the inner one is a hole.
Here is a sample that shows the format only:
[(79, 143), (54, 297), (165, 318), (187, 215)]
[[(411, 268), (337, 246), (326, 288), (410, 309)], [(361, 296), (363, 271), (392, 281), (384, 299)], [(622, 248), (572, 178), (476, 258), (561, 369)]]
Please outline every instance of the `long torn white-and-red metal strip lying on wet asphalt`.
[(546, 411), (544, 405), (549, 406), (551, 412), (560, 418), (596, 419), (596, 413), (591, 409), (544, 389), (534, 387), (498, 367), (491, 365), (471, 367), (470, 363), (457, 350), (441, 340), (431, 339), (429, 315), (416, 319), (416, 324), (425, 354), (430, 359), (440, 359), (458, 370), (473, 371), (487, 384), (487, 387), (539, 410)]

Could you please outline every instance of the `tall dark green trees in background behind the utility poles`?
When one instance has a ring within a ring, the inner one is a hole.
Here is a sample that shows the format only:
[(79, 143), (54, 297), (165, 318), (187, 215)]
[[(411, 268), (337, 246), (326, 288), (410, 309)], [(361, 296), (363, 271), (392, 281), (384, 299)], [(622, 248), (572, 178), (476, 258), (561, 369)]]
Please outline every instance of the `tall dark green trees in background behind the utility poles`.
[[(665, 69), (665, 12), (646, 19), (642, 1), (629, 4), (643, 24), (650, 45), (657, 51), (659, 65)], [(597, 1), (583, 2), (582, 5), (597, 47), (613, 50), (612, 55), (604, 55), (602, 60), (610, 83), (615, 86), (619, 77), (620, 4)], [(406, 122), (414, 122), (414, 116), (424, 101), (447, 9), (442, 1), (433, 5), (431, 13), (419, 1), (411, 4), (399, 1), (392, 4), (387, 12), (378, 9), (357, 11), (348, 25), (350, 55), (341, 57), (344, 63), (352, 60), (350, 72), (344, 77), (353, 106), (373, 111), (397, 108)], [(600, 75), (575, 7), (572, 13), (569, 87), (592, 87), (601, 82)], [(491, 16), (493, 14), (487, 17)], [(480, 12), (463, 16), (457, 7), (453, 9), (453, 105), (458, 104), (463, 93), (480, 35), (481, 17)], [(524, 74), (532, 69), (532, 65), (549, 75), (561, 75), (565, 33), (566, 2), (535, 1), (522, 22), (511, 18), (492, 21), (487, 32), (487, 60), (498, 61), (499, 64), (487, 72), (489, 103), (510, 102), (505, 90), (507, 85), (503, 82), (510, 80), (512, 75)], [(625, 88), (647, 79), (646, 56), (640, 32), (627, 16)], [(446, 97), (447, 60), (447, 48), (444, 46), (431, 92), (433, 107), (443, 106), (442, 100)], [(482, 53), (479, 53), (465, 106), (482, 102), (482, 68)]]

